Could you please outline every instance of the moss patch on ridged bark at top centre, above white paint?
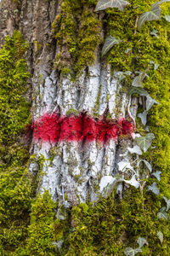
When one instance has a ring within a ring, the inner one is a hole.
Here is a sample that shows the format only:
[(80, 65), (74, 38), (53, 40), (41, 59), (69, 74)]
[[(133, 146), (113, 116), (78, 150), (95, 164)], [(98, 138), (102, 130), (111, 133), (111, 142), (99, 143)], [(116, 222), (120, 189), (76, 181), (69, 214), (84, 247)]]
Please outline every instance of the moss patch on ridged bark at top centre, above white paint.
[(96, 1), (65, 0), (61, 14), (57, 15), (52, 31), (57, 39), (61, 54), (56, 55), (55, 67), (80, 73), (83, 67), (95, 62), (95, 49), (101, 41), (99, 32), (101, 22), (94, 14)]

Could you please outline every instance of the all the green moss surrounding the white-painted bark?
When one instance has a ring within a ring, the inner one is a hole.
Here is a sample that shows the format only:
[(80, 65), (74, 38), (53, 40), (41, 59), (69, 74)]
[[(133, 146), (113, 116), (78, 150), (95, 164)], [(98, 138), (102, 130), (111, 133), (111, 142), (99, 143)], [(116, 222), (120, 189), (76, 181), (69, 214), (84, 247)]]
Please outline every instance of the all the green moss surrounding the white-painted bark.
[[(35, 184), (26, 171), (28, 148), (19, 139), (30, 118), (29, 103), (23, 97), (28, 78), (23, 60), (26, 43), (20, 33), (15, 32), (13, 38), (6, 39), (0, 51), (2, 255), (119, 256), (124, 255), (125, 247), (136, 247), (139, 236), (148, 242), (141, 255), (170, 255), (169, 220), (157, 218), (157, 212), (166, 206), (162, 197), (170, 199), (170, 26), (162, 18), (146, 22), (141, 31), (137, 31), (137, 17), (154, 1), (131, 0), (124, 12), (106, 9), (102, 21), (94, 13), (95, 3), (89, 0), (63, 1), (61, 13), (53, 24), (59, 49), (54, 67), (62, 73), (75, 75), (82, 67), (94, 63), (94, 52), (102, 42), (101, 24), (105, 36), (111, 34), (123, 40), (105, 56), (105, 63), (111, 63), (113, 70), (134, 73), (144, 71), (150, 61), (159, 65), (156, 70), (151, 66), (149, 77), (144, 79), (144, 89), (160, 103), (150, 110), (148, 121), (150, 131), (156, 136), (153, 144), (156, 148), (151, 148), (144, 157), (154, 171), (161, 171), (161, 181), (150, 176), (144, 191), (129, 188), (122, 201), (113, 191), (107, 199), (94, 205), (80, 204), (67, 212), (60, 207), (60, 212), (65, 213), (65, 219), (60, 220), (56, 218), (57, 204), (48, 192), (31, 199)], [(161, 9), (162, 15), (170, 11), (168, 3)], [(80, 26), (77, 28), (78, 22)], [(150, 34), (154, 29), (159, 38)], [(127, 79), (122, 90), (128, 90), (131, 80)], [(145, 133), (139, 119), (137, 131)], [(159, 196), (147, 191), (147, 186), (155, 181), (161, 192)], [(61, 216), (63, 218), (63, 214)], [(168, 216), (170, 218), (169, 212)], [(163, 233), (162, 243), (158, 231)]]

